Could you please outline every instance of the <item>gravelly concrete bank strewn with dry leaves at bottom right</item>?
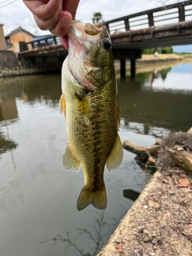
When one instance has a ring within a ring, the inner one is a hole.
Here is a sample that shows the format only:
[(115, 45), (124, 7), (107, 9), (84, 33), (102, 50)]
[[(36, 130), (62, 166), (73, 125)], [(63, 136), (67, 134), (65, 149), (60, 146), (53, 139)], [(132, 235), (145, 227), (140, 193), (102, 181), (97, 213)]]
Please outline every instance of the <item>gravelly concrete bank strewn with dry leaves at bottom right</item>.
[[(183, 177), (183, 178), (181, 178)], [(191, 256), (192, 190), (179, 167), (157, 170), (97, 256)]]

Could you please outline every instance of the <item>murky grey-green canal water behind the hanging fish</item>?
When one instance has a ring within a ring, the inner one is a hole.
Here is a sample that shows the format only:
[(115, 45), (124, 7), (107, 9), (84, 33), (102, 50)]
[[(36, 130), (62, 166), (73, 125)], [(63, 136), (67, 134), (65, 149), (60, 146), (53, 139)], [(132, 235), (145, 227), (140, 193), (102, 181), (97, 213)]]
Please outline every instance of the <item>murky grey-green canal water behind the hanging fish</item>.
[[(117, 74), (122, 142), (149, 146), (192, 126), (191, 61), (139, 66), (135, 81)], [(68, 139), (60, 83), (53, 74), (0, 80), (2, 256), (95, 255), (145, 185), (135, 155), (124, 151), (118, 169), (105, 168), (106, 210), (77, 211), (84, 178), (82, 169), (61, 167)]]

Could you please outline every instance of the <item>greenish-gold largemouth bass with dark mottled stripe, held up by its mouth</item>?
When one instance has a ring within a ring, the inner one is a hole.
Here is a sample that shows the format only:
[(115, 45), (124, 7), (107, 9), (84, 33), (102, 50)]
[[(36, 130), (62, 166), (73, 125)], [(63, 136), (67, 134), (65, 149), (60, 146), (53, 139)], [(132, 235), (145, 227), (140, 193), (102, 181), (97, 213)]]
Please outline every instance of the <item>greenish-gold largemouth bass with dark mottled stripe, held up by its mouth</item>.
[(104, 20), (94, 25), (72, 20), (69, 54), (62, 66), (59, 113), (65, 114), (69, 140), (62, 167), (78, 172), (82, 166), (79, 211), (90, 204), (106, 208), (104, 166), (112, 172), (123, 157), (112, 45), (104, 24)]

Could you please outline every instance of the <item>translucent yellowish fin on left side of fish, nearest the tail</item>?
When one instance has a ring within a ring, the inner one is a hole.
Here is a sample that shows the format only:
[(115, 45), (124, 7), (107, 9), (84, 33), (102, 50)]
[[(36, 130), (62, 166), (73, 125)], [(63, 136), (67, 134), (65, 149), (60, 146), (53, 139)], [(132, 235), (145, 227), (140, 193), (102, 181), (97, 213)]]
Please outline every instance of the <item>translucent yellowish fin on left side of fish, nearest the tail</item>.
[(80, 166), (81, 164), (74, 157), (73, 153), (71, 152), (71, 148), (68, 145), (62, 157), (62, 167), (66, 170), (70, 170), (73, 167), (73, 170), (76, 169), (76, 171), (78, 172)]

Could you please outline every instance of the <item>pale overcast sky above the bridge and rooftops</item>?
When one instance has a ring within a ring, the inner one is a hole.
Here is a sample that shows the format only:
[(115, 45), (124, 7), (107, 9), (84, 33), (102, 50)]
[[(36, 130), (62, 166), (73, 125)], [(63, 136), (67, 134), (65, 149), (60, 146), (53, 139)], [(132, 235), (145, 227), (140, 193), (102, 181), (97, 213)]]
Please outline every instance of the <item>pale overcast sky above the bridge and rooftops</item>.
[[(35, 35), (49, 34), (49, 31), (41, 31), (37, 28), (32, 13), (24, 5), (22, 0), (0, 0), (0, 24), (4, 24), (5, 35), (12, 30), (22, 27)], [(94, 12), (101, 12), (105, 20), (117, 18), (140, 11), (159, 7), (160, 0), (80, 0), (76, 18), (81, 22), (91, 22)], [(167, 0), (165, 0), (167, 1)], [(167, 4), (176, 0), (168, 0)]]

